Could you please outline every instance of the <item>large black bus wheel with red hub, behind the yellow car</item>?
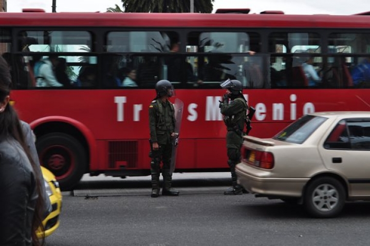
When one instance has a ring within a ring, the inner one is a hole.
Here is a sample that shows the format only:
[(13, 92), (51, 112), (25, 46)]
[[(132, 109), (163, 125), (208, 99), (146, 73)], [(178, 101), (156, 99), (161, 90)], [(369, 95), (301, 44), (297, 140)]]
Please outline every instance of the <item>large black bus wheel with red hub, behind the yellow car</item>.
[(52, 133), (36, 141), (40, 162), (57, 178), (62, 191), (73, 188), (86, 169), (86, 154), (79, 141), (70, 135)]

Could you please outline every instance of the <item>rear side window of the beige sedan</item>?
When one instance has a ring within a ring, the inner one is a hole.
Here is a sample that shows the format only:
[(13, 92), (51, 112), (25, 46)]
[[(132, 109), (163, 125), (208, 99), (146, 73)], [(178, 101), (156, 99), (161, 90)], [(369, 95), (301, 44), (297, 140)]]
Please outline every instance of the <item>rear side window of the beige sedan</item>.
[(341, 120), (324, 142), (327, 149), (370, 149), (370, 119)]

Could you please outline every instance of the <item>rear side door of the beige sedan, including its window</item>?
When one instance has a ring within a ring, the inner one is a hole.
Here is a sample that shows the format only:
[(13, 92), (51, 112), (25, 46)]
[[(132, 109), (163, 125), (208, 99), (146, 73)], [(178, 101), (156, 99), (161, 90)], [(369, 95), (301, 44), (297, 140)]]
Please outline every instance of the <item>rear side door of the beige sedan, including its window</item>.
[(370, 118), (338, 122), (319, 147), (325, 166), (349, 183), (351, 197), (370, 197)]

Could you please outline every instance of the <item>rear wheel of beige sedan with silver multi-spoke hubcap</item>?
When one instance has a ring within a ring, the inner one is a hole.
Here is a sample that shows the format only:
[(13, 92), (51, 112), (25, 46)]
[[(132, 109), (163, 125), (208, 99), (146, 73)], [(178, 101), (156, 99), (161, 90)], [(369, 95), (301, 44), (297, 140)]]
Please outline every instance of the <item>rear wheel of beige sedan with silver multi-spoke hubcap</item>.
[(313, 217), (331, 218), (342, 211), (345, 199), (343, 185), (335, 178), (323, 177), (308, 184), (304, 206)]

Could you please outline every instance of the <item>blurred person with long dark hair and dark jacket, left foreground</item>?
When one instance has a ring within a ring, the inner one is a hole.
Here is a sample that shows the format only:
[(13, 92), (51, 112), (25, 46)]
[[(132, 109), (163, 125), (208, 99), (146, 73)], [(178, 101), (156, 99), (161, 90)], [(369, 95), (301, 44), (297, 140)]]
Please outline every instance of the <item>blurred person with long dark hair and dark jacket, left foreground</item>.
[(10, 87), (9, 68), (0, 58), (0, 245), (38, 246), (44, 211), (40, 167), (9, 104)]

